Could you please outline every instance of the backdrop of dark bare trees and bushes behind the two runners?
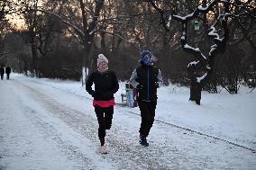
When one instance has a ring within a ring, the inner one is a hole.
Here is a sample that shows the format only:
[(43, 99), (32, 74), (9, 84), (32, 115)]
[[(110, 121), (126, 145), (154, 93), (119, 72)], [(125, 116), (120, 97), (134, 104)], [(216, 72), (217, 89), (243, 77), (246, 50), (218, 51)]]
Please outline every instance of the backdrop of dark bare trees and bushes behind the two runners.
[[(193, 101), (202, 89), (218, 93), (222, 86), (235, 94), (242, 84), (255, 87), (251, 0), (23, 0), (8, 5), (19, 7), (24, 29), (6, 31), (0, 49), (12, 51), (8, 60), (17, 71), (84, 81), (103, 52), (119, 79), (127, 80), (140, 51), (151, 49), (165, 83), (191, 84)], [(14, 48), (12, 40), (23, 48)]]

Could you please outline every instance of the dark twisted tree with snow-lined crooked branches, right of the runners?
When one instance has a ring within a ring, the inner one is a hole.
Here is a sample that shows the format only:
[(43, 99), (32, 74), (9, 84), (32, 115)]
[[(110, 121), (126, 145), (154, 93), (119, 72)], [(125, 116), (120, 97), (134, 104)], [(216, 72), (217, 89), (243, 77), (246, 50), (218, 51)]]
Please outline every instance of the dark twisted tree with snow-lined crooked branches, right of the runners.
[[(198, 6), (193, 13), (180, 16), (172, 9), (169, 9), (169, 17), (167, 17), (167, 13), (160, 8), (156, 1), (150, 0), (148, 2), (160, 13), (160, 21), (166, 31), (169, 31), (172, 21), (181, 23), (182, 36), (180, 42), (182, 48), (197, 58), (196, 61), (189, 63), (187, 66), (191, 81), (189, 99), (200, 104), (202, 87), (206, 85), (207, 80), (213, 74), (215, 56), (224, 51), (226, 42), (229, 40), (230, 30), (228, 22), (233, 19), (242, 19), (244, 15), (250, 16), (255, 21), (255, 5), (251, 5), (252, 1), (247, 1), (245, 4), (238, 0), (213, 0), (206, 6), (206, 1), (203, 1), (203, 6)], [(239, 8), (239, 10), (233, 11), (232, 7)], [(188, 22), (197, 19), (200, 13), (214, 13), (215, 15), (215, 18), (209, 21), (210, 24), (207, 26), (207, 35), (209, 39), (214, 41), (214, 44), (211, 45), (206, 54), (201, 49), (188, 45), (187, 40)]]

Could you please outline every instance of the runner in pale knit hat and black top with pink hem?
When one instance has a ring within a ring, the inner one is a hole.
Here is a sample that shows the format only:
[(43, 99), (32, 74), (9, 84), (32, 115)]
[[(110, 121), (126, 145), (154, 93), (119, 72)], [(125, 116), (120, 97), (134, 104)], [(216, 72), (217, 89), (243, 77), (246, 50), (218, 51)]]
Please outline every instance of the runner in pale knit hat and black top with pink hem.
[[(97, 70), (87, 78), (87, 92), (94, 97), (93, 105), (95, 107), (98, 121), (98, 138), (101, 144), (101, 153), (106, 154), (105, 148), (105, 130), (110, 130), (114, 114), (114, 94), (119, 85), (115, 73), (108, 70), (108, 59), (103, 54), (97, 58)], [(92, 85), (95, 85), (95, 90)]]

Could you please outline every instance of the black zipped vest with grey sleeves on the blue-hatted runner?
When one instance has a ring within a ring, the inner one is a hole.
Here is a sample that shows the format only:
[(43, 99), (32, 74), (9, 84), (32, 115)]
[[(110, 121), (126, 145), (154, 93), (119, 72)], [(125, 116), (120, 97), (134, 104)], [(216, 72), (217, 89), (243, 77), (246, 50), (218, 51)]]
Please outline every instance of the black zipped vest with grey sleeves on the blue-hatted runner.
[(162, 76), (159, 68), (142, 64), (133, 70), (130, 82), (139, 92), (138, 100), (156, 101), (157, 88), (162, 84)]

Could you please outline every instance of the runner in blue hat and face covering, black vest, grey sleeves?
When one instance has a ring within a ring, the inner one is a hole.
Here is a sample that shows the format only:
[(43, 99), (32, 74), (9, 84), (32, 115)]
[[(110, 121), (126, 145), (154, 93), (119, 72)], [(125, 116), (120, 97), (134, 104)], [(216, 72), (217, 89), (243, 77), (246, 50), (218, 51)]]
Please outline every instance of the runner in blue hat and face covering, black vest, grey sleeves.
[(138, 91), (138, 105), (141, 111), (140, 144), (148, 147), (147, 137), (154, 122), (157, 105), (157, 88), (162, 84), (160, 69), (153, 66), (151, 51), (141, 53), (141, 66), (133, 70), (130, 84)]

